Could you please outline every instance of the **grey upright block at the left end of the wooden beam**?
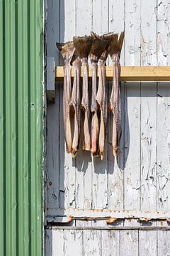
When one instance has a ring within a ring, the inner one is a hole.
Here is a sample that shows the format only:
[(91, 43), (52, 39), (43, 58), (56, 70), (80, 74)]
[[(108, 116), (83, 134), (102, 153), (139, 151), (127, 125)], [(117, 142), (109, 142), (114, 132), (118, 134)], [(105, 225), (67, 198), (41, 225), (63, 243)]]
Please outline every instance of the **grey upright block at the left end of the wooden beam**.
[(55, 102), (55, 58), (47, 57), (47, 102)]

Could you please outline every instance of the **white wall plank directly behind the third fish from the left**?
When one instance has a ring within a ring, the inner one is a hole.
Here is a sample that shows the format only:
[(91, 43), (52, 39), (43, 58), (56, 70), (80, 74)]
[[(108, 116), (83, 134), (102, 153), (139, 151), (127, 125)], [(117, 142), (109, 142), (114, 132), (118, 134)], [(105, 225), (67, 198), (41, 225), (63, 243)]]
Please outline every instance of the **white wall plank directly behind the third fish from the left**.
[[(77, 0), (76, 12), (76, 33), (78, 36), (89, 35), (92, 25), (92, 6), (91, 0)], [(81, 146), (82, 147), (82, 146)], [(92, 192), (91, 192), (91, 153), (79, 149), (76, 159), (77, 177), (76, 177), (76, 207), (81, 209), (91, 209)], [(84, 225), (85, 222), (77, 220), (77, 225)], [(91, 225), (91, 221), (86, 222)]]

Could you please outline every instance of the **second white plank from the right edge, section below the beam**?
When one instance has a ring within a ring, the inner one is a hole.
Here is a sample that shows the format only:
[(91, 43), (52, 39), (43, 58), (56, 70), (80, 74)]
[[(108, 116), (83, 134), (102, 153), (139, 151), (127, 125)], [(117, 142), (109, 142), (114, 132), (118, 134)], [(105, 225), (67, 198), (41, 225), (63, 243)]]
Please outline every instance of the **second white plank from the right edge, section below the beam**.
[(157, 210), (157, 85), (141, 86), (141, 210)]

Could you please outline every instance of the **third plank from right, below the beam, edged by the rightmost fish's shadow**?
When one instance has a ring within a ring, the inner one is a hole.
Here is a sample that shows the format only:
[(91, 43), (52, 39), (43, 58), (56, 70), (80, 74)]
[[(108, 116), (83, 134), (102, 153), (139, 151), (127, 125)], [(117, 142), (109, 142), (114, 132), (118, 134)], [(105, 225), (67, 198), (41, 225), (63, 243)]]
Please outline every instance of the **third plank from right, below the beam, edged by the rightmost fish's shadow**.
[(140, 87), (125, 85), (125, 209), (140, 210)]

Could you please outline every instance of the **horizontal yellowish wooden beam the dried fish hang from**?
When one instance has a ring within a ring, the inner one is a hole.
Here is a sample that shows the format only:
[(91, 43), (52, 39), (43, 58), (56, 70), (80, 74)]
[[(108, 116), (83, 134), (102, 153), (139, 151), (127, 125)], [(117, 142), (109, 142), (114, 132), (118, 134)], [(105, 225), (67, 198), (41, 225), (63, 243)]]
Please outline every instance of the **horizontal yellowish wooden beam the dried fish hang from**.
[[(55, 68), (55, 80), (62, 81), (63, 80), (63, 67), (57, 66)], [(72, 70), (72, 77), (73, 77)], [(82, 77), (82, 70), (81, 70)], [(89, 66), (89, 78), (91, 78), (91, 68)], [(113, 80), (113, 67), (106, 67), (106, 80)], [(121, 67), (120, 74), (121, 81), (170, 81), (170, 66), (164, 67)]]

